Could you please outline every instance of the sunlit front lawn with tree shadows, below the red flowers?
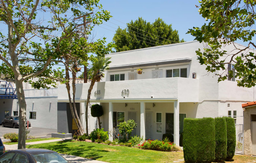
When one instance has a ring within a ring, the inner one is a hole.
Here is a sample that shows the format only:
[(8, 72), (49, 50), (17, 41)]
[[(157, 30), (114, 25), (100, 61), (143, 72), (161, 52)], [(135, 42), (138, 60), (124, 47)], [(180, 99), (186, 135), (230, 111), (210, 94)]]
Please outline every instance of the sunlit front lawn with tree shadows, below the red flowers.
[[(184, 159), (183, 152), (142, 150), (132, 147), (112, 146), (74, 140), (28, 145), (27, 148), (50, 149), (62, 154), (106, 161), (109, 163), (172, 163), (173, 161)], [(244, 155), (235, 155), (233, 159), (234, 161), (226, 161), (226, 163), (249, 163), (256, 161), (255, 157)], [(179, 163), (185, 163), (185, 161), (180, 161)]]

